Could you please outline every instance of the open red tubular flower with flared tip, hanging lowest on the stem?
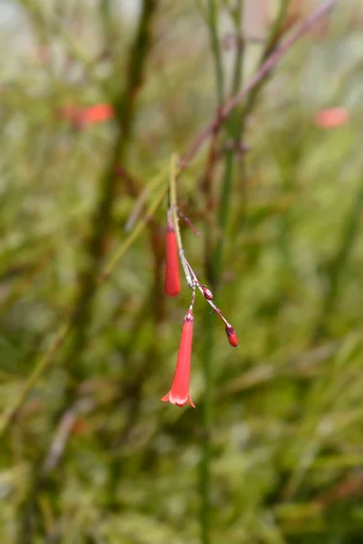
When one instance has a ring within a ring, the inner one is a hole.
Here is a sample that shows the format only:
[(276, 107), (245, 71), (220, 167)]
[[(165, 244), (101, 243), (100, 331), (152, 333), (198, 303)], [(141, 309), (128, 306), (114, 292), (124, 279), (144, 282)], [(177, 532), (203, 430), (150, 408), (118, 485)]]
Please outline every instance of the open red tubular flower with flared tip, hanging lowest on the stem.
[(174, 379), (172, 381), (172, 389), (168, 394), (162, 397), (164, 403), (172, 403), (177, 406), (185, 406), (190, 403), (195, 408), (189, 393), (189, 378), (191, 374), (191, 343), (192, 343), (192, 328), (194, 317), (190, 309), (184, 317), (182, 324), (182, 338), (179, 346), (178, 361)]

